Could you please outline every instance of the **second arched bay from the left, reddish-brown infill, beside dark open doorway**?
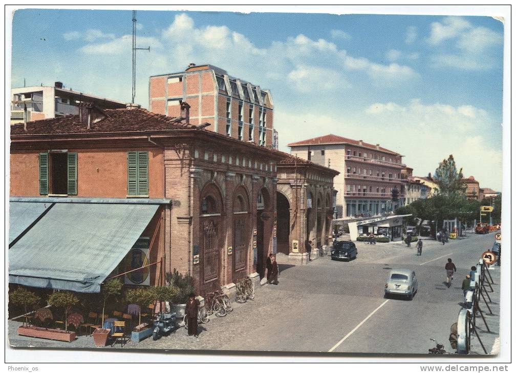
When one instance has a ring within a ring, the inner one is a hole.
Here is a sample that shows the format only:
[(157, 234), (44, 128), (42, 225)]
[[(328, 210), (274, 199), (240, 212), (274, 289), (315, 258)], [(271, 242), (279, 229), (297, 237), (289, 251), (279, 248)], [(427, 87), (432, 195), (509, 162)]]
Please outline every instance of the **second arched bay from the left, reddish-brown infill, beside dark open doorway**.
[(249, 251), (249, 198), (244, 188), (238, 188), (233, 199), (233, 282), (247, 275)]

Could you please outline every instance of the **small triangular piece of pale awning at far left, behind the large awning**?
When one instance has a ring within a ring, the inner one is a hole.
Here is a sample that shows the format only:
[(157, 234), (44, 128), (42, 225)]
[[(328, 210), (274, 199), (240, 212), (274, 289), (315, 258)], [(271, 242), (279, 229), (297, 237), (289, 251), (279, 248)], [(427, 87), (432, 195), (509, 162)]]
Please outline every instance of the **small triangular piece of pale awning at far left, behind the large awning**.
[(33, 225), (54, 204), (52, 202), (9, 203), (9, 245)]

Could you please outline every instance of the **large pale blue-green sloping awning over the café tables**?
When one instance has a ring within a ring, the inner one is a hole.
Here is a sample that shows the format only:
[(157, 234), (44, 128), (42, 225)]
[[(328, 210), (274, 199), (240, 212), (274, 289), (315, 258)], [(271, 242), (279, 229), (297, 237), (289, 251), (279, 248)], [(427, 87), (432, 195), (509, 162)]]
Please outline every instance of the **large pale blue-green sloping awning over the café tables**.
[(158, 207), (56, 203), (9, 249), (9, 282), (100, 292)]

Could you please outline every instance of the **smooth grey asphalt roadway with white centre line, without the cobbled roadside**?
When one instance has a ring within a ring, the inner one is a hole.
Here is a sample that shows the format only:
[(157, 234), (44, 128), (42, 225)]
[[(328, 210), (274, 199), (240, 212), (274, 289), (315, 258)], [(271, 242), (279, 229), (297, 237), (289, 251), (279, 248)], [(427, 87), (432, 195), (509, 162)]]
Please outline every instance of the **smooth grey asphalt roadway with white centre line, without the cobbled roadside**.
[[(426, 241), (421, 257), (414, 244), (361, 244), (351, 262), (322, 257), (285, 269), (278, 291), (285, 298), (306, 296), (295, 307), (268, 315), (267, 326), (254, 329), (254, 341), (246, 338), (246, 345), (252, 350), (413, 354), (427, 353), (434, 347), (429, 338), (434, 338), (450, 349), (449, 328), (457, 321), (462, 279), (493, 241), (493, 234), (470, 235), (444, 246)], [(457, 266), (449, 289), (444, 285), (447, 258)], [(399, 267), (415, 270), (419, 285), (412, 301), (384, 298), (388, 272)], [(241, 342), (237, 337), (222, 348), (243, 349)]]

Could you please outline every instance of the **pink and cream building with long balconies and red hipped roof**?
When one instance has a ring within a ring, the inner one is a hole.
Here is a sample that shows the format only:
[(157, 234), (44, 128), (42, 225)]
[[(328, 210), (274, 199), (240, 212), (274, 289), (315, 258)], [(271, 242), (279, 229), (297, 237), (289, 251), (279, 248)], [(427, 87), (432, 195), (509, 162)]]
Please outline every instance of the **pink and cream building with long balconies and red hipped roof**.
[(375, 216), (402, 206), (406, 165), (397, 152), (334, 134), (288, 146), (292, 155), (340, 172), (333, 180), (337, 217)]

